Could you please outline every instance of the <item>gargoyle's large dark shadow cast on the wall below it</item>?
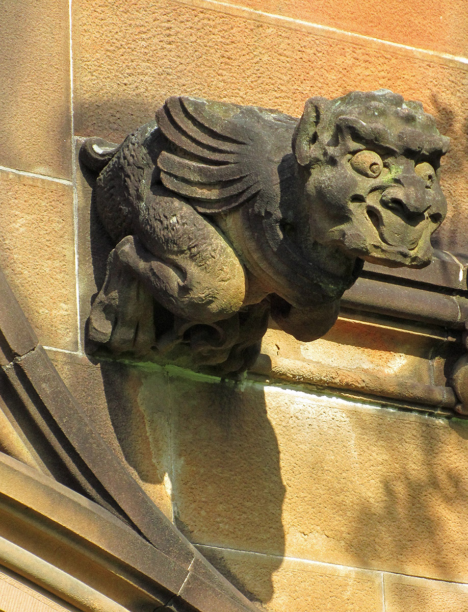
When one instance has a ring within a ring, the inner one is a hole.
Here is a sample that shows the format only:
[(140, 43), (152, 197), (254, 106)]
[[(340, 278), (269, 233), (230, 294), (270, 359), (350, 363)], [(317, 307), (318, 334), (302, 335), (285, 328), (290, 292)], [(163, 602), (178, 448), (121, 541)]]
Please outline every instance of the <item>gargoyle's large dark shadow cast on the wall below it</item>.
[[(111, 242), (94, 201), (89, 229), (100, 287)], [(254, 595), (210, 549), (210, 562), (240, 591), (269, 602), (284, 554), (284, 484), (262, 386), (151, 364), (102, 361), (100, 370), (125, 460), (147, 493), (158, 503), (157, 489), (170, 491), (174, 523), (193, 543), (277, 556)]]

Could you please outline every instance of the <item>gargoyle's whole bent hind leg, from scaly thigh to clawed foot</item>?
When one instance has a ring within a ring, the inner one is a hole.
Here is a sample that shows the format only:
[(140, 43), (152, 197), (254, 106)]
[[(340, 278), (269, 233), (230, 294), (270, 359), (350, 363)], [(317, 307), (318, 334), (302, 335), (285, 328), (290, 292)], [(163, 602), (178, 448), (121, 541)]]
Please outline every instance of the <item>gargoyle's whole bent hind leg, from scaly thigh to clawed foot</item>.
[(153, 300), (179, 319), (209, 324), (236, 313), (245, 297), (243, 266), (217, 228), (174, 198), (149, 204), (141, 239), (126, 236), (111, 253), (89, 319), (89, 338), (117, 352), (155, 345)]

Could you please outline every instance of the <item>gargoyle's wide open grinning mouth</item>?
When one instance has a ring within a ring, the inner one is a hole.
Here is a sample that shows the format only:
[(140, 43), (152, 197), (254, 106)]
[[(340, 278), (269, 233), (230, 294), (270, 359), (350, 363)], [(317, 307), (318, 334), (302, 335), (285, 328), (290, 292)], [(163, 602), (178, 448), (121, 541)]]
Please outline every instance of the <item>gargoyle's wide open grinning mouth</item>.
[(384, 211), (377, 206), (366, 207), (366, 214), (381, 241), (389, 247), (414, 251), (423, 235), (423, 223), (412, 227), (391, 211), (385, 212), (384, 215)]

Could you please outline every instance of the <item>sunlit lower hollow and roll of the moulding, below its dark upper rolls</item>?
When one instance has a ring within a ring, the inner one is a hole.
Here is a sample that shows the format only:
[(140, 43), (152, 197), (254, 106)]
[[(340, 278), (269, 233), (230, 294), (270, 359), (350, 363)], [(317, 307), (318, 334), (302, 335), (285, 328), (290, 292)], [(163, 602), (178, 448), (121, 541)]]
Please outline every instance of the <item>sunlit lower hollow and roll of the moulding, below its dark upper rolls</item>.
[(251, 371), (355, 396), (396, 400), (396, 405), (424, 411), (447, 414), (455, 408), (458, 400), (447, 387), (447, 373), (463, 351), (457, 335), (435, 326), (399, 324), (372, 319), (370, 314), (359, 320), (352, 315), (341, 315), (324, 337), (309, 343), (270, 326)]

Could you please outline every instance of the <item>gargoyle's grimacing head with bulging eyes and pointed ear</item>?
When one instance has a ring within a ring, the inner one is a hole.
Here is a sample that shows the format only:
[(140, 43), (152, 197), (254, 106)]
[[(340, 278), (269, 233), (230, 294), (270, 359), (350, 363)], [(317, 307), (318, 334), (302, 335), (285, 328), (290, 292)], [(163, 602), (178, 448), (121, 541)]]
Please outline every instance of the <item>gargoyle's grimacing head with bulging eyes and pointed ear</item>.
[(371, 263), (423, 267), (447, 202), (441, 136), (421, 103), (388, 90), (313, 97), (295, 129), (311, 235)]

